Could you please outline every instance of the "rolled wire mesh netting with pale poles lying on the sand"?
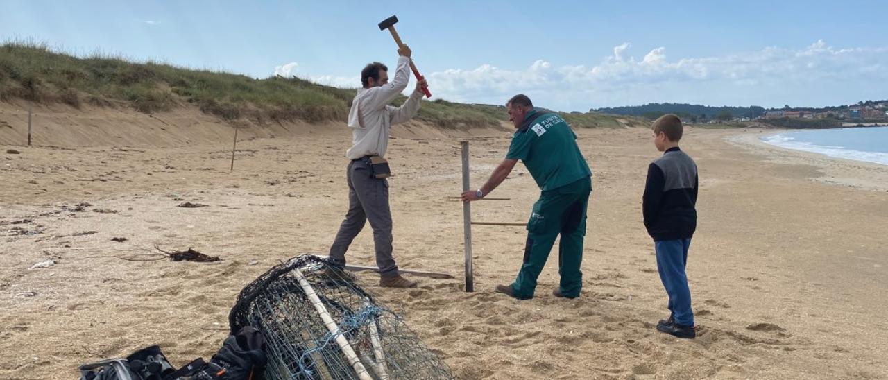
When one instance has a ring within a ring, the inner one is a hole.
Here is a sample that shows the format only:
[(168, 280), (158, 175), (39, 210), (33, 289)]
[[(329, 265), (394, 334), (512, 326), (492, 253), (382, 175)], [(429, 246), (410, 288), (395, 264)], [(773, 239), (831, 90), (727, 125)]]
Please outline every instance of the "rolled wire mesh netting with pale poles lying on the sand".
[(229, 325), (263, 332), (266, 379), (455, 378), (353, 274), (320, 257), (294, 257), (259, 276), (237, 297)]

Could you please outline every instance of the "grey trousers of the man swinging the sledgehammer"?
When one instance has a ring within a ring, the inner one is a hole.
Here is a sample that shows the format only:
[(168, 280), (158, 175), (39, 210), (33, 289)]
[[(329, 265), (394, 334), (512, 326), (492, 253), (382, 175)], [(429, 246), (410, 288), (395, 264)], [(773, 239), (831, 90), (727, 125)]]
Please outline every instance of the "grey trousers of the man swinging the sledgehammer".
[(345, 172), (348, 213), (330, 246), (329, 257), (337, 264), (345, 265), (345, 251), (369, 219), (377, 249), (379, 274), (383, 277), (397, 276), (398, 265), (395, 265), (392, 257), (392, 211), (389, 210), (388, 181), (370, 176), (370, 162), (366, 157), (349, 162)]

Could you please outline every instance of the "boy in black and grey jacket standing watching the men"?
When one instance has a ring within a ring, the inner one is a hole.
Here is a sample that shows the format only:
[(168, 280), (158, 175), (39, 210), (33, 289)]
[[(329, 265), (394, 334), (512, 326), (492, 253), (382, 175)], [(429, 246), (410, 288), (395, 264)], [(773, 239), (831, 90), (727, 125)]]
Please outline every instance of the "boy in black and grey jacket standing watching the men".
[(654, 238), (657, 271), (669, 295), (670, 317), (657, 323), (657, 330), (693, 339), (694, 313), (685, 267), (687, 249), (697, 227), (697, 164), (678, 148), (681, 120), (663, 115), (651, 127), (654, 146), (662, 157), (647, 167), (643, 212), (647, 234)]

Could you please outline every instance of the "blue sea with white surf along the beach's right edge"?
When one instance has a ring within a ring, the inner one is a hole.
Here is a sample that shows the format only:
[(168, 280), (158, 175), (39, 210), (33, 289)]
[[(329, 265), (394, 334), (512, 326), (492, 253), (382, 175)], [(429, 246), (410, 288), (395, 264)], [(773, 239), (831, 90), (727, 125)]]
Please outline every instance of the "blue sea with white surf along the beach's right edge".
[(888, 165), (888, 127), (791, 131), (761, 139), (773, 146)]

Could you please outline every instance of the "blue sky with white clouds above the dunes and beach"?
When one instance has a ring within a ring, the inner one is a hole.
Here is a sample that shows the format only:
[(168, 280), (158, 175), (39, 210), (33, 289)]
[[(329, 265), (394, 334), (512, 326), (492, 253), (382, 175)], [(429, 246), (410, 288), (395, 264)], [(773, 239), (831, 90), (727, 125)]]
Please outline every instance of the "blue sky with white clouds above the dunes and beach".
[[(395, 27), (432, 99), (559, 111), (652, 102), (824, 107), (888, 99), (882, 1), (0, 0), (0, 40), (360, 86)], [(412, 87), (411, 87), (412, 88)]]

